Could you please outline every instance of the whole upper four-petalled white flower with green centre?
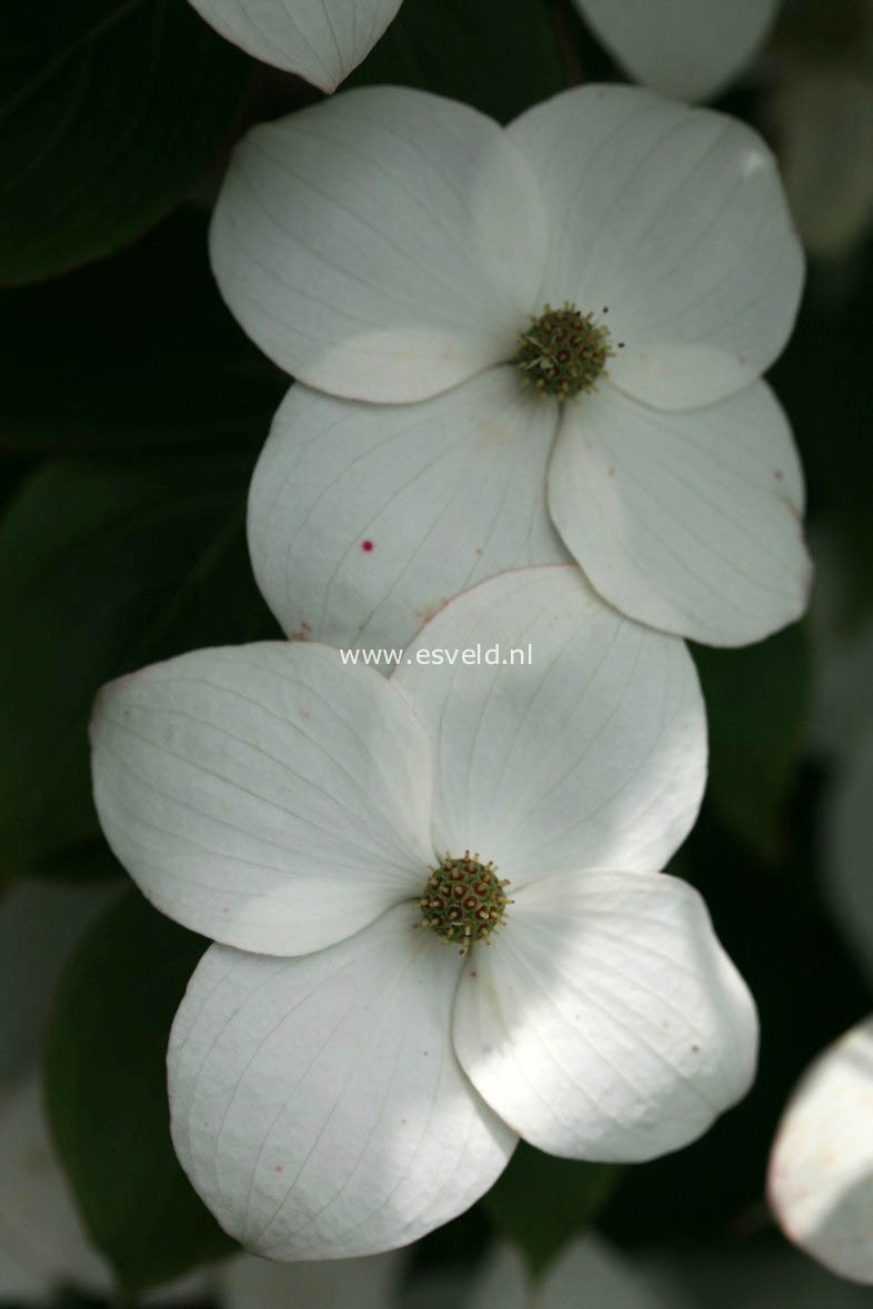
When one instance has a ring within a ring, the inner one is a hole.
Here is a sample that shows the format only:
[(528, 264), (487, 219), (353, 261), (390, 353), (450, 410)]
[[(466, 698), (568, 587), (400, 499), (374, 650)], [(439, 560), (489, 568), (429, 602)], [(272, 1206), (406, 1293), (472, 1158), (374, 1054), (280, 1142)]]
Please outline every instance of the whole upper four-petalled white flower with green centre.
[(249, 517), (289, 635), (399, 647), (483, 577), (571, 558), (618, 609), (712, 644), (804, 609), (802, 478), (758, 380), (802, 257), (742, 123), (627, 86), (505, 131), (347, 92), (246, 137), (211, 249), (305, 384)]

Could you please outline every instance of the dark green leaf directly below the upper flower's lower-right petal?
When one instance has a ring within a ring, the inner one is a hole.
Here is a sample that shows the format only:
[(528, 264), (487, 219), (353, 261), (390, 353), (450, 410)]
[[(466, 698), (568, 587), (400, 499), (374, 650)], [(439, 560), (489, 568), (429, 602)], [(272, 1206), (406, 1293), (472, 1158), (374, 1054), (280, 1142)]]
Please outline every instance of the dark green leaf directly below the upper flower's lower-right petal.
[(694, 658), (709, 721), (708, 800), (758, 853), (772, 856), (806, 719), (806, 627), (745, 649), (698, 645)]

